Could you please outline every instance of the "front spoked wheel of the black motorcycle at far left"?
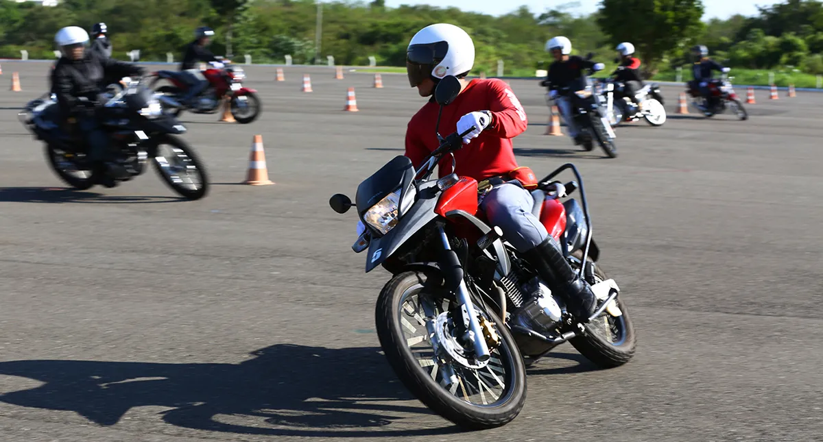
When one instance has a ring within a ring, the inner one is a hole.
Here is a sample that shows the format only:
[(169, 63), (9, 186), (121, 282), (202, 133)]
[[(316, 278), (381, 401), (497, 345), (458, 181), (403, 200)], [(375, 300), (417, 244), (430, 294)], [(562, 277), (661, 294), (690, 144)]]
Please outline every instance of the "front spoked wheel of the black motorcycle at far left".
[(180, 196), (199, 200), (208, 191), (208, 176), (197, 154), (183, 140), (164, 136), (157, 141), (155, 168)]

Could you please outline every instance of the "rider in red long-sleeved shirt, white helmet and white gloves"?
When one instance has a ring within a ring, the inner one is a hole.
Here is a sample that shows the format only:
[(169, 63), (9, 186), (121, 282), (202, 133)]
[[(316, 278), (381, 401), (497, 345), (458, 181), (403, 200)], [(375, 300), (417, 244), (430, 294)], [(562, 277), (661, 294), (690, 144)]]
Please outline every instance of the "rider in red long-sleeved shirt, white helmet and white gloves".
[[(505, 239), (526, 256), (551, 288), (562, 292), (572, 315), (580, 321), (588, 320), (597, 299), (565, 260), (560, 245), (532, 214), (534, 200), (526, 187), (536, 187), (537, 178), (531, 169), (518, 167), (514, 158), (511, 139), (528, 126), (523, 106), (504, 81), (466, 80), (474, 55), (474, 44), (466, 31), (444, 23), (418, 31), (407, 48), (407, 76), (421, 97), (432, 96), (445, 76), (458, 77), (462, 85), (458, 98), (443, 109), (441, 131), (456, 127), (463, 133), (476, 127), (463, 138), (467, 146), (454, 153), (455, 170), (451, 170), (451, 158), (444, 158), (439, 163), (439, 176), (453, 172), (480, 182), (480, 188), (486, 191), (481, 195), (480, 207), (490, 223), (503, 230)], [(439, 146), (435, 135), (438, 111), (432, 96), (408, 123), (405, 155), (416, 168)]]

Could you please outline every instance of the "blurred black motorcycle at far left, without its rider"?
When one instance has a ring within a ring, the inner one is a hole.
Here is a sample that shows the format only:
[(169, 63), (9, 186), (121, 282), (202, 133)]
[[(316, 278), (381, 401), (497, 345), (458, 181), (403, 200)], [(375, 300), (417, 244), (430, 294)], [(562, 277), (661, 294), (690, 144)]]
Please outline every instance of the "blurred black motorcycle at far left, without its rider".
[[(175, 136), (186, 128), (174, 116), (163, 113), (150, 89), (141, 81), (126, 78), (123, 87), (110, 87), (103, 97), (107, 101), (100, 124), (109, 134), (114, 161), (128, 171), (128, 177), (120, 177), (120, 181), (143, 173), (151, 159), (163, 181), (180, 196), (189, 200), (206, 196), (206, 168), (194, 150)], [(49, 165), (63, 182), (86, 190), (100, 181), (86, 157), (86, 144), (72, 133), (71, 124), (63, 127), (59, 123), (54, 94), (30, 101), (18, 117), (37, 140), (44, 141)]]

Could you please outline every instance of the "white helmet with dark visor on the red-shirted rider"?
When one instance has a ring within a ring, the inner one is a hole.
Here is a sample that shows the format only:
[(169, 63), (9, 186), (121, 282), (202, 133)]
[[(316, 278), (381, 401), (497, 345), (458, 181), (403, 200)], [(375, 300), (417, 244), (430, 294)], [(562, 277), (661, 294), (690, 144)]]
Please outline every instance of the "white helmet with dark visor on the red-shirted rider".
[(406, 71), (412, 87), (426, 78), (463, 76), (474, 66), (474, 43), (465, 30), (448, 23), (429, 25), (412, 37), (406, 49)]

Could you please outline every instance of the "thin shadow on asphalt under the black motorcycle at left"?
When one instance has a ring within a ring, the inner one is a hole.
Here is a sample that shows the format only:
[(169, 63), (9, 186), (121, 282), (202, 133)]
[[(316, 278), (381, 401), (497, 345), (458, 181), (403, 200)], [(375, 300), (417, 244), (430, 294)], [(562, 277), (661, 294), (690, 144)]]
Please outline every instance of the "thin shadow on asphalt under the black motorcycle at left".
[(0, 187), (2, 203), (170, 203), (184, 201), (174, 196), (115, 196), (70, 187)]

